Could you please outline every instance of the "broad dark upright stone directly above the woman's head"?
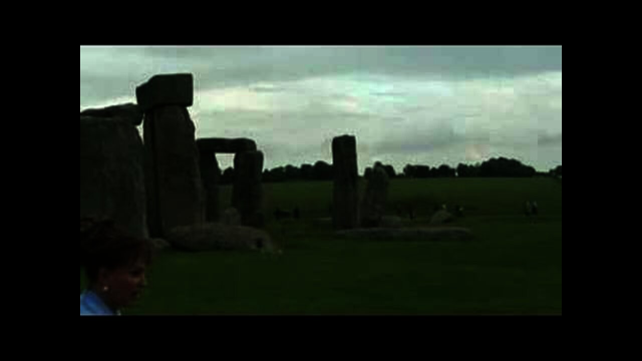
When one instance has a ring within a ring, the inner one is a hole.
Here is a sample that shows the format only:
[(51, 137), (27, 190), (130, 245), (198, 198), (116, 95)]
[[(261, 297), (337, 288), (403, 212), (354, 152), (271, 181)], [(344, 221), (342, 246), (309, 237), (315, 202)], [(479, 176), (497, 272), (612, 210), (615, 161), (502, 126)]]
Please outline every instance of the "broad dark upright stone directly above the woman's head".
[(80, 116), (80, 218), (148, 236), (144, 148), (130, 120)]

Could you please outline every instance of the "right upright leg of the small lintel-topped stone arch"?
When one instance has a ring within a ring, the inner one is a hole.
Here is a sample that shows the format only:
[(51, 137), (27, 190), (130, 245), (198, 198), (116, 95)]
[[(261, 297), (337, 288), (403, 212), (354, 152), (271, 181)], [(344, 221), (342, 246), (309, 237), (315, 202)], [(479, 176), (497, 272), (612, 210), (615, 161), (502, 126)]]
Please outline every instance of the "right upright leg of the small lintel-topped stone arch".
[(232, 207), (241, 213), (241, 223), (263, 227), (263, 152), (245, 152), (234, 157), (234, 189)]

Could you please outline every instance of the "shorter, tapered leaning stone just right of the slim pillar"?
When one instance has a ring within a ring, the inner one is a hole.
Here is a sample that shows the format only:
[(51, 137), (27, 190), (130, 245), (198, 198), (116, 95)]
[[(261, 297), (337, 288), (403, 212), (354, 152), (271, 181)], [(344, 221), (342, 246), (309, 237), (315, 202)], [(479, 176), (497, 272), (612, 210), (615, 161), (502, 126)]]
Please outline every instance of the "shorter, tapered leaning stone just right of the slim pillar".
[(362, 227), (379, 227), (381, 225), (388, 198), (388, 186), (390, 186), (390, 180), (385, 168), (375, 166), (361, 204)]

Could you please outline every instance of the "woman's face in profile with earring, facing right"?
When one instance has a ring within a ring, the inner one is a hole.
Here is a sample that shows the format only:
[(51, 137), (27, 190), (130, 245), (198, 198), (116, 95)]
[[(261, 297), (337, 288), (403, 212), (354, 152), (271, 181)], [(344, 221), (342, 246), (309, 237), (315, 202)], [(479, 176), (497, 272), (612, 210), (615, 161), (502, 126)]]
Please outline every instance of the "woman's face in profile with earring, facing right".
[(132, 304), (147, 285), (146, 269), (146, 264), (139, 260), (129, 266), (104, 270), (101, 288), (107, 286), (104, 295), (108, 305), (120, 310)]

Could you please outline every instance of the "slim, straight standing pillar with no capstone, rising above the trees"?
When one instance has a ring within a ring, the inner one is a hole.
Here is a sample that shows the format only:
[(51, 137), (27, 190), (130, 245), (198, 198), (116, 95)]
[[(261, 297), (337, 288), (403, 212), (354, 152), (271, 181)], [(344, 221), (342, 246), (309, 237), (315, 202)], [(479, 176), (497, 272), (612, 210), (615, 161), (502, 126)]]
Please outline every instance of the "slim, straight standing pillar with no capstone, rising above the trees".
[(332, 141), (334, 168), (334, 229), (358, 226), (357, 148), (356, 137), (335, 137)]

